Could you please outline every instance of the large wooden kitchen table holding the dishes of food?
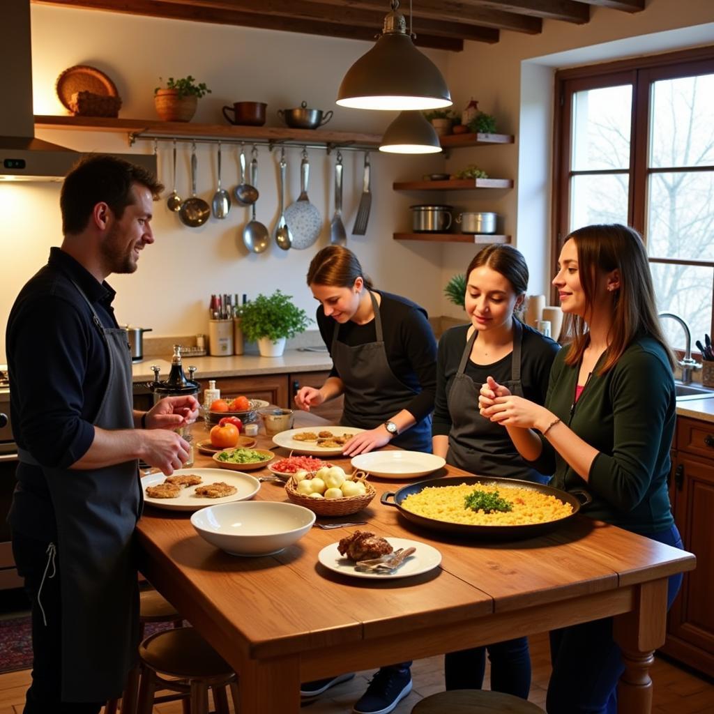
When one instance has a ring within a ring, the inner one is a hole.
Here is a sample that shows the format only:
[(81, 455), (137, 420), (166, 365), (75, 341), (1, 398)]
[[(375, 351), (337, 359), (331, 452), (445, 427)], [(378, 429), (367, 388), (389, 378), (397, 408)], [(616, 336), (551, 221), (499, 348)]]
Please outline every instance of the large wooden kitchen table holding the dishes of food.
[[(296, 426), (318, 423), (298, 416)], [(206, 438), (202, 424), (196, 434)], [(348, 459), (330, 460), (351, 470)], [(197, 467), (212, 465), (196, 459)], [(459, 473), (447, 467), (433, 476)], [(619, 711), (650, 713), (648, 670), (665, 640), (666, 578), (693, 569), (693, 555), (585, 516), (531, 540), (458, 539), (421, 530), (379, 503), (406, 482), (372, 483), (378, 496), (360, 520), (379, 535), (433, 545), (441, 568), (387, 582), (323, 568), (318, 552), (351, 529), (313, 528), (277, 555), (236, 558), (200, 538), (190, 514), (146, 508), (141, 570), (236, 670), (242, 712), (297, 713), (303, 681), (614, 615), (625, 657)], [(266, 482), (256, 499), (287, 496), (281, 483)]]

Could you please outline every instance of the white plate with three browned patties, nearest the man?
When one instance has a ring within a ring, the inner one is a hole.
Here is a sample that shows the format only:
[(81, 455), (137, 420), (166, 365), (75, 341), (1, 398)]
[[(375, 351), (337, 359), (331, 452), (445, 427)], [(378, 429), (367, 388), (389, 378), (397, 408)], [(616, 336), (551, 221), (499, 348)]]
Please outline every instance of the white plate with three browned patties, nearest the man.
[(179, 468), (171, 474), (150, 473), (141, 478), (144, 502), (169, 511), (198, 511), (213, 503), (248, 501), (261, 484), (248, 473), (220, 468)]

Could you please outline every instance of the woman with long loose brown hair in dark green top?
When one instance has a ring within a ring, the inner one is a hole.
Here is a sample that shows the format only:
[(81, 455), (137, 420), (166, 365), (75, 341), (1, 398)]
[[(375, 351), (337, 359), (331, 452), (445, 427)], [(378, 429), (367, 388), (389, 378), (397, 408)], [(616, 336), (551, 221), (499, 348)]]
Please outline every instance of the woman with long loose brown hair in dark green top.
[[(640, 236), (620, 225), (570, 233), (553, 285), (572, 341), (555, 358), (545, 406), (489, 378), (481, 413), (535, 468), (554, 469), (550, 486), (588, 491), (586, 515), (681, 548), (667, 490), (674, 361)], [(669, 578), (668, 605), (681, 580)], [(617, 711), (624, 666), (613, 618), (555, 630), (550, 650), (549, 714)]]

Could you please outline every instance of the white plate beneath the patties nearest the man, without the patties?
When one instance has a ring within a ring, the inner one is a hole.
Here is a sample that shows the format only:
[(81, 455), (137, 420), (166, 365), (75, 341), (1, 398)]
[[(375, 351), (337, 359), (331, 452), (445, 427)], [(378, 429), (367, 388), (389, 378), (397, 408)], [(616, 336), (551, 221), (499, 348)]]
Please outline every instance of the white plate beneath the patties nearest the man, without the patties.
[(198, 486), (206, 486), (208, 483), (223, 481), (228, 486), (235, 486), (238, 491), (233, 496), (223, 496), (222, 498), (206, 498), (196, 496), (196, 486), (182, 488), (181, 493), (176, 498), (149, 498), (146, 496), (147, 486), (158, 486), (164, 483), (166, 476), (163, 473), (150, 473), (149, 476), (141, 478), (141, 488), (144, 490), (144, 502), (150, 503), (156, 508), (166, 508), (167, 511), (198, 511), (199, 508), (213, 506), (214, 503), (231, 503), (231, 501), (248, 501), (248, 498), (260, 491), (261, 483), (254, 476), (239, 471), (226, 471), (223, 468), (179, 468), (171, 476), (188, 476), (195, 473), (203, 478), (203, 483)]

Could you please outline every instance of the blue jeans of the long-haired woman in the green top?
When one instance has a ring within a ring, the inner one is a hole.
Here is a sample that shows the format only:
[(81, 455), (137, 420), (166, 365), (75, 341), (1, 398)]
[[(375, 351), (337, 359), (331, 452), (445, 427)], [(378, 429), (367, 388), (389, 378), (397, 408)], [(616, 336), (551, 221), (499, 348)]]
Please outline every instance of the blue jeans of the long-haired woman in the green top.
[[(682, 548), (677, 526), (648, 536)], [(674, 602), (682, 573), (668, 579), (667, 608)], [(613, 640), (613, 618), (593, 620), (550, 633), (553, 674), (545, 708), (548, 714), (617, 714), (617, 686), (625, 670)]]

